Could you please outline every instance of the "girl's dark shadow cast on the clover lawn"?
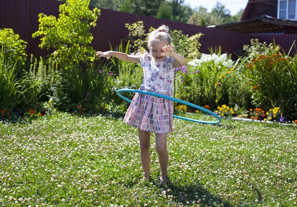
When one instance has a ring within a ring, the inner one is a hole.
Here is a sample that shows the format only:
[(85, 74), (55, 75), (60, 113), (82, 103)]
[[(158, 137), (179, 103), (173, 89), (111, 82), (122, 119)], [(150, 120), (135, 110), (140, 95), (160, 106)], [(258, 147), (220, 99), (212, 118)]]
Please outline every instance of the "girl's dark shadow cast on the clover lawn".
[[(231, 207), (231, 205), (221, 198), (211, 194), (208, 190), (203, 188), (201, 184), (181, 185), (181, 181), (168, 180), (168, 188), (171, 190), (173, 199), (177, 203), (182, 203), (185, 206), (191, 206), (191, 203), (196, 201), (202, 207)], [(189, 202), (189, 204), (187, 204)], [(223, 204), (223, 205), (222, 205)]]

